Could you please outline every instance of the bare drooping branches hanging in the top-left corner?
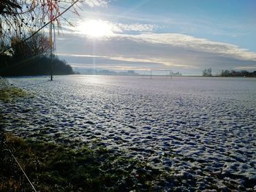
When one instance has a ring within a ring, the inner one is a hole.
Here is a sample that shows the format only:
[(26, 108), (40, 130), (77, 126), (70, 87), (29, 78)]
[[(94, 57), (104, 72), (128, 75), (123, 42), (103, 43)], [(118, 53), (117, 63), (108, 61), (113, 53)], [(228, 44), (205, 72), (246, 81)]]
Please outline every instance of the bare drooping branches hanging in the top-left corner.
[[(30, 31), (37, 33), (48, 23), (50, 28), (54, 25), (59, 30), (64, 12), (72, 7), (72, 12), (78, 14), (74, 8), (77, 2), (78, 0), (1, 0), (0, 42), (4, 46), (1, 46), (0, 55), (13, 45), (12, 37), (26, 39)], [(67, 21), (65, 18), (63, 20)], [(49, 31), (51, 37), (52, 31)]]

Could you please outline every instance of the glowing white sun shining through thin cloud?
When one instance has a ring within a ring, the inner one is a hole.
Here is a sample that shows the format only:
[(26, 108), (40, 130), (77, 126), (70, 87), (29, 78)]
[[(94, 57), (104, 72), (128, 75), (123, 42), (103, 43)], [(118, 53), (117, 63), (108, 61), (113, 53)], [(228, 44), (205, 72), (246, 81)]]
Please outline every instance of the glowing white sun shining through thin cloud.
[(112, 26), (104, 20), (86, 20), (80, 22), (78, 31), (89, 37), (108, 37), (113, 34)]

